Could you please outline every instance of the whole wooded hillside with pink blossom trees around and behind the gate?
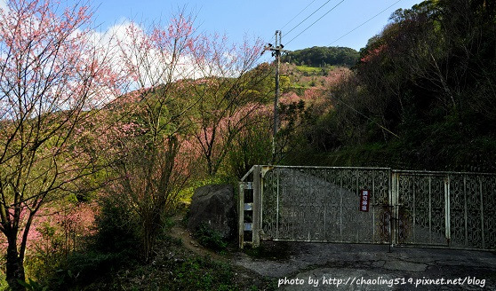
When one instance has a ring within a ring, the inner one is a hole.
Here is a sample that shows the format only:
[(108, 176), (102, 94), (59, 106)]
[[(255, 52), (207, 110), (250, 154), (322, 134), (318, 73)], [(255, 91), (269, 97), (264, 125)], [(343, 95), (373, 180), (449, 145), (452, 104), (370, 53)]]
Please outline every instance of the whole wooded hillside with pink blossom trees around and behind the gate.
[(493, 1), (424, 1), (359, 52), (284, 56), (274, 153), (260, 39), (199, 34), (184, 11), (101, 35), (91, 7), (8, 9), (0, 287), (250, 287), (227, 263), (170, 255), (184, 250), (168, 233), (196, 187), (236, 185), (256, 164), (496, 172)]

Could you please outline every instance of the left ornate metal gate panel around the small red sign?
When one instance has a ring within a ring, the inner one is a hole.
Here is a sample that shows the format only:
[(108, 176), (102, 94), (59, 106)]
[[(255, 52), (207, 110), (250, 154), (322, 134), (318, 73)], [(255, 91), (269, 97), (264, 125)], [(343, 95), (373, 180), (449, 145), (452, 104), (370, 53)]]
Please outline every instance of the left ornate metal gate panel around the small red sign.
[(262, 240), (388, 243), (388, 169), (277, 167), (263, 181)]

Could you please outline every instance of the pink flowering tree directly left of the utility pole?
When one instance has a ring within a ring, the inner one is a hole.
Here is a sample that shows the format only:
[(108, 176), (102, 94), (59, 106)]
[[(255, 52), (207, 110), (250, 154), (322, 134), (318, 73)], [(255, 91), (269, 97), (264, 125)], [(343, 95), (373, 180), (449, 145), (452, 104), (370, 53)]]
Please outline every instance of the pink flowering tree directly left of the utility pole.
[(220, 169), (234, 138), (256, 120), (250, 116), (268, 101), (263, 87), (271, 69), (260, 66), (250, 72), (261, 48), (260, 40), (236, 46), (220, 35), (206, 35), (196, 43), (195, 61), (201, 74), (193, 86), (194, 137), (210, 176)]

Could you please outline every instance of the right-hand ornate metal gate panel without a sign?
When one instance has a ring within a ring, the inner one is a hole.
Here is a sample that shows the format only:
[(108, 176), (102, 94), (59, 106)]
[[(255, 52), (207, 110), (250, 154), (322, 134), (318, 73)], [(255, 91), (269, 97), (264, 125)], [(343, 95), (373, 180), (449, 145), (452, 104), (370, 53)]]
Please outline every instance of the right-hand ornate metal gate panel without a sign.
[(496, 175), (393, 170), (396, 244), (496, 248)]

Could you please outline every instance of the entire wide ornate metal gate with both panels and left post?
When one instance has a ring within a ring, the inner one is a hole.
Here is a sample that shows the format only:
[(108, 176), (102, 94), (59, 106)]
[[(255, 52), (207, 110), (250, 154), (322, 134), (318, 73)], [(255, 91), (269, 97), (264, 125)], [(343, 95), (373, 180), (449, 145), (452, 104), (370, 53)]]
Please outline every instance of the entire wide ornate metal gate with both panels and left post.
[(285, 240), (492, 249), (494, 191), (493, 174), (254, 166), (240, 183), (240, 248)]

